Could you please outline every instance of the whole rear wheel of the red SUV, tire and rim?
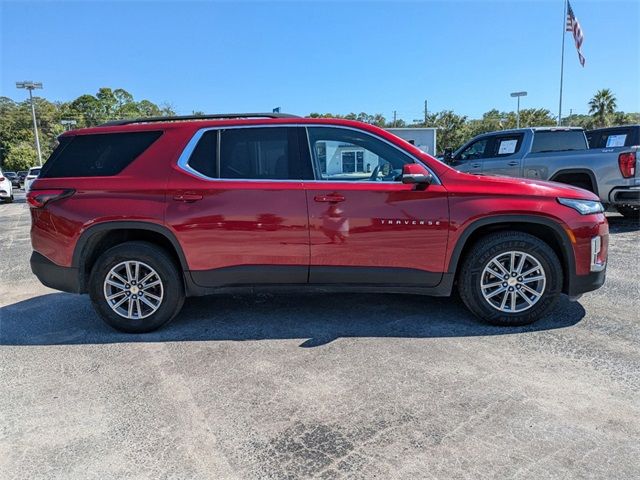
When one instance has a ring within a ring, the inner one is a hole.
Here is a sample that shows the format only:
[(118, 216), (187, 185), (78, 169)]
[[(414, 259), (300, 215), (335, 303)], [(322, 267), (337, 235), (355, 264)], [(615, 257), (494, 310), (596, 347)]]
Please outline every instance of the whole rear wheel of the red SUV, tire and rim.
[(132, 333), (165, 325), (184, 303), (174, 261), (147, 242), (127, 242), (103, 253), (92, 269), (89, 294), (106, 323)]

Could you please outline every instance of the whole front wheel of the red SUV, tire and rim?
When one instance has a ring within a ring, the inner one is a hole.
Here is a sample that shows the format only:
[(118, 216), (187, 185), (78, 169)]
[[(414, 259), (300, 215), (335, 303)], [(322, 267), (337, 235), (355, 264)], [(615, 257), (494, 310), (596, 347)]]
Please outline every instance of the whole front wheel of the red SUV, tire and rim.
[(535, 322), (557, 303), (562, 269), (551, 247), (533, 235), (501, 232), (479, 240), (458, 278), (471, 312), (495, 325)]

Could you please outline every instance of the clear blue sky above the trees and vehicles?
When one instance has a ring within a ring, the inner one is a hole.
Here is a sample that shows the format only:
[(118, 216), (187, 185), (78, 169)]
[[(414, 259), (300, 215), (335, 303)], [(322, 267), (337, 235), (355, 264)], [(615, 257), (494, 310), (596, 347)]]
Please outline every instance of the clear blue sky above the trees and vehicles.
[[(640, 1), (572, 0), (582, 68), (565, 36), (563, 115), (610, 88), (640, 111)], [(169, 103), (180, 114), (382, 113), (406, 121), (453, 110), (478, 118), (558, 112), (563, 0), (0, 0), (0, 96), (16, 81), (51, 101), (100, 87)]]

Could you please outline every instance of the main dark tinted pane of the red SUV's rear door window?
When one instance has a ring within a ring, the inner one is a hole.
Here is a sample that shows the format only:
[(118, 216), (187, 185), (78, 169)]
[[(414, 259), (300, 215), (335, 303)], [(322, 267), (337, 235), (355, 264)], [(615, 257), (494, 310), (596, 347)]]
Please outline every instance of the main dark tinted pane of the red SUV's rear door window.
[(220, 142), (220, 178), (302, 178), (295, 128), (234, 128)]

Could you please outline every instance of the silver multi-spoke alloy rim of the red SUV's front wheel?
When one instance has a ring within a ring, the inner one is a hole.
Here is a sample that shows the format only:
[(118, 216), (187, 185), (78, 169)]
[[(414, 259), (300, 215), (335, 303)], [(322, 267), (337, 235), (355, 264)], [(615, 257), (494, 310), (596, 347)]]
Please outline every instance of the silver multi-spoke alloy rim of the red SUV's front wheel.
[(547, 277), (540, 261), (520, 251), (496, 255), (489, 260), (480, 277), (485, 301), (502, 313), (530, 309), (542, 298), (546, 284)]

